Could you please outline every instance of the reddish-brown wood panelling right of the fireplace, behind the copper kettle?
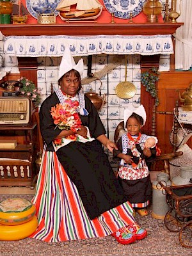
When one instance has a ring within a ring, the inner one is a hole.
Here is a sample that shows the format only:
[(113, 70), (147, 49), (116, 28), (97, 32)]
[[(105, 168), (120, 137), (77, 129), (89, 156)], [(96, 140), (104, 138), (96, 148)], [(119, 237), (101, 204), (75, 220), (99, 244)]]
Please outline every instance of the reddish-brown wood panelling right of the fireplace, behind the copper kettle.
[[(170, 132), (173, 127), (173, 109), (176, 100), (179, 100), (179, 94), (184, 92), (192, 82), (192, 72), (161, 72), (158, 81), (159, 106), (156, 114), (156, 131), (161, 151), (163, 153), (173, 152), (173, 146), (170, 143)], [(180, 104), (180, 102), (179, 102)], [(192, 147), (192, 140), (188, 141), (189, 147)]]

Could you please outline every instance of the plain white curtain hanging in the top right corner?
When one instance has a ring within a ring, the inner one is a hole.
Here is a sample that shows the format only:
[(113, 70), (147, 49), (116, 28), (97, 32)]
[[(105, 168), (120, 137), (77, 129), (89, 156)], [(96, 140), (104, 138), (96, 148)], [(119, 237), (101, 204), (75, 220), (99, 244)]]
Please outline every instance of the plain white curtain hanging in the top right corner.
[(176, 38), (175, 69), (189, 70), (192, 67), (192, 1), (177, 1), (177, 12), (179, 9), (177, 22), (184, 22), (184, 26), (178, 28), (173, 35)]

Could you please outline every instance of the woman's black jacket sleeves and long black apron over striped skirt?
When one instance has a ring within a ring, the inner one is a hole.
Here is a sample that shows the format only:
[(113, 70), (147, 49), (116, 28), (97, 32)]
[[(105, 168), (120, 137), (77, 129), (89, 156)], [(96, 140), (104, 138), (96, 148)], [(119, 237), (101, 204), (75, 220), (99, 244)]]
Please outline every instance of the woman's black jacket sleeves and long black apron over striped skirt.
[[(55, 129), (50, 113), (51, 107), (58, 103), (60, 101), (56, 93), (53, 93), (40, 108), (40, 127), (47, 143), (47, 151), (54, 151), (52, 140), (61, 132), (60, 129)], [(105, 134), (97, 110), (86, 96), (85, 108), (89, 115), (80, 116), (81, 122), (89, 127), (91, 136), (97, 138)], [(56, 154), (68, 177), (76, 185), (91, 220), (127, 201), (99, 141), (72, 141), (58, 149)]]

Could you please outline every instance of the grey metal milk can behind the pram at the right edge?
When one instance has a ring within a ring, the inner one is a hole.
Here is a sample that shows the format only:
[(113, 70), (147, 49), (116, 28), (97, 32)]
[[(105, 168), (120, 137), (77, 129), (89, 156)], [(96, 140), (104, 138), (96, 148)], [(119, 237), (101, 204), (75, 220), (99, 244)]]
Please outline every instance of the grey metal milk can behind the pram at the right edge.
[(172, 186), (188, 185), (192, 181), (192, 166), (180, 166), (180, 175), (172, 179)]

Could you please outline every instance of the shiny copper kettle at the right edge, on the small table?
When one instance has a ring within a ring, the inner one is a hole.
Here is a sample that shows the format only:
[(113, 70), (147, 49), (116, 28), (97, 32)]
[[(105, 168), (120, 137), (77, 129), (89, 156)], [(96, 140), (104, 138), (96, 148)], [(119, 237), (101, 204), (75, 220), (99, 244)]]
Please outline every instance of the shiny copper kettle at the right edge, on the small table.
[(182, 93), (182, 96), (180, 95), (179, 90), (177, 90), (177, 92), (179, 93), (180, 102), (184, 102), (182, 109), (184, 111), (192, 111), (192, 83), (189, 84), (189, 88)]

